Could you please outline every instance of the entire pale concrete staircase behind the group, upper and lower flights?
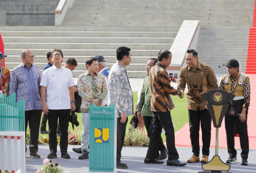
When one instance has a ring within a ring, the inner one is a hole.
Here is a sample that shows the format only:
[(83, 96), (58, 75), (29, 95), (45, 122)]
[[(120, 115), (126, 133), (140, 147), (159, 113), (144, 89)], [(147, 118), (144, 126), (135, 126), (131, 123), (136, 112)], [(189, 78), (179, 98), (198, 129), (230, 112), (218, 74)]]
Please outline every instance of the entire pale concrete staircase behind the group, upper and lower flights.
[[(86, 58), (102, 54), (109, 68), (116, 61), (116, 49), (132, 49), (129, 77), (145, 77), (145, 63), (159, 50), (169, 49), (183, 20), (201, 21), (198, 49), (201, 62), (218, 73), (219, 64), (230, 58), (242, 62), (244, 70), (249, 27), (252, 26), (254, 0), (76, 0), (61, 27), (1, 27), (5, 43), (6, 67), (20, 62), (20, 52), (31, 49), (35, 64), (46, 64), (46, 53), (58, 47), (78, 67), (74, 77), (86, 70)], [(240, 59), (241, 58), (241, 59)], [(226, 73), (225, 68), (223, 72)]]

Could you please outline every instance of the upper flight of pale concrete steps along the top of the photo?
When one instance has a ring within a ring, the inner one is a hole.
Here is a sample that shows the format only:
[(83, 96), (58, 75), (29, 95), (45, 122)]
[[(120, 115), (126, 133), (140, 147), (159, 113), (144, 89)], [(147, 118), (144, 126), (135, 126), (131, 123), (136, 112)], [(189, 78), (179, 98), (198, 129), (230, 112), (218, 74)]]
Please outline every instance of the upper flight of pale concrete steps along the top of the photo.
[(250, 27), (253, 0), (76, 0), (62, 26), (179, 27), (200, 20), (203, 27)]

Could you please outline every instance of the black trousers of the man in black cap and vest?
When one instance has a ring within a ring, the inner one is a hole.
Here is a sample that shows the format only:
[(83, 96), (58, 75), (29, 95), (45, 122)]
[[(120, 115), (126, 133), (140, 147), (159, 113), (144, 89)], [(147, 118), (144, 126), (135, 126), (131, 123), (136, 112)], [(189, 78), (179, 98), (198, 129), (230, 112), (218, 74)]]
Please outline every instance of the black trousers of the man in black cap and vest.
[(247, 132), (247, 113), (245, 122), (241, 122), (237, 116), (225, 115), (225, 128), (227, 135), (227, 151), (230, 157), (237, 157), (237, 150), (234, 149), (234, 124), (237, 122), (237, 128), (239, 131), (240, 146), (242, 149), (241, 157), (243, 159), (248, 158), (249, 153), (249, 138)]

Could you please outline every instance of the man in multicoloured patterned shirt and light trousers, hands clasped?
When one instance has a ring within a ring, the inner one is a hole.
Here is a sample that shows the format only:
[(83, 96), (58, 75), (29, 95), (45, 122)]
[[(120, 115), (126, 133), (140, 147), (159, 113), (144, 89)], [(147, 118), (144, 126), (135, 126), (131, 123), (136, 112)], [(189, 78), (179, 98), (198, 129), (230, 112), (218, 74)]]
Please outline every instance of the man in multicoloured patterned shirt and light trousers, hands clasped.
[(78, 76), (77, 81), (78, 94), (82, 98), (80, 111), (82, 113), (83, 128), (81, 136), (82, 155), (78, 159), (89, 158), (90, 104), (94, 103), (97, 106), (101, 106), (102, 101), (108, 94), (104, 76), (97, 73), (99, 68), (98, 60), (94, 57), (89, 58), (86, 61), (86, 67), (88, 72)]

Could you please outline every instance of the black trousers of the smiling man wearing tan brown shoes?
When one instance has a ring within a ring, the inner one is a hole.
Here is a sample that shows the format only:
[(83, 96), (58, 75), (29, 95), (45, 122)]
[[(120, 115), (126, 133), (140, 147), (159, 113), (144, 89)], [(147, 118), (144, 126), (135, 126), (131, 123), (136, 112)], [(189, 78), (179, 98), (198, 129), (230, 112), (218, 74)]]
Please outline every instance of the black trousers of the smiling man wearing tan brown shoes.
[(199, 130), (200, 122), (202, 129), (202, 141), (203, 155), (209, 156), (210, 150), (210, 136), (211, 136), (211, 117), (207, 109), (200, 111), (188, 110), (189, 117), (189, 131), (190, 131), (190, 141), (192, 145), (192, 152), (194, 156), (199, 156), (200, 146), (199, 146)]

